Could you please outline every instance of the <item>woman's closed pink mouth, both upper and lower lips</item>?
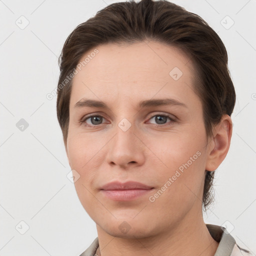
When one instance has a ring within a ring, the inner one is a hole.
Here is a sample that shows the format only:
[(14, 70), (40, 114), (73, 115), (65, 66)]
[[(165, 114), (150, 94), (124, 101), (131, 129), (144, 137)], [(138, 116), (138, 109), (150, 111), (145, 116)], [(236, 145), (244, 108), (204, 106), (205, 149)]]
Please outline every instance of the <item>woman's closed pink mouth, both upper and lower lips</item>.
[(109, 199), (115, 201), (129, 201), (145, 195), (152, 189), (153, 187), (136, 181), (127, 181), (125, 183), (113, 181), (103, 185), (100, 191)]

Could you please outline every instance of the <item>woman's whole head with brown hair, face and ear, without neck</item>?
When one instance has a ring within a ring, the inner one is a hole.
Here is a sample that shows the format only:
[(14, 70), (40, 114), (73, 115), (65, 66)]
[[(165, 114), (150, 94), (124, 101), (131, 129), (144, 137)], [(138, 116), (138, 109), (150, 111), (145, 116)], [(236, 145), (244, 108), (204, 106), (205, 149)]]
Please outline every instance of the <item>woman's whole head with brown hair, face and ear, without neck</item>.
[[(59, 65), (57, 117), (96, 223), (114, 234), (111, 221), (129, 220), (138, 234), (155, 209), (153, 232), (211, 204), (235, 92), (225, 47), (204, 20), (168, 1), (113, 3), (70, 33)], [(153, 189), (147, 200), (117, 202), (100, 191), (113, 180)]]

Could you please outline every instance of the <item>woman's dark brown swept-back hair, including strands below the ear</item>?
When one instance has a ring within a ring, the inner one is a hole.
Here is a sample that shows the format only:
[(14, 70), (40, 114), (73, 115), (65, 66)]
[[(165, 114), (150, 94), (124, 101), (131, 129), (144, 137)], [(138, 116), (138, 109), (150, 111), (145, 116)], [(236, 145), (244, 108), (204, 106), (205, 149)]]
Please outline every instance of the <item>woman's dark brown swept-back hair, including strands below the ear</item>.
[[(198, 15), (166, 0), (112, 3), (79, 24), (67, 37), (59, 56), (57, 118), (66, 146), (73, 71), (88, 50), (104, 43), (134, 43), (146, 39), (178, 47), (198, 73), (194, 90), (203, 105), (207, 136), (223, 114), (231, 115), (235, 91), (227, 67), (227, 52), (216, 32)], [(202, 205), (213, 202), (214, 171), (205, 170)]]

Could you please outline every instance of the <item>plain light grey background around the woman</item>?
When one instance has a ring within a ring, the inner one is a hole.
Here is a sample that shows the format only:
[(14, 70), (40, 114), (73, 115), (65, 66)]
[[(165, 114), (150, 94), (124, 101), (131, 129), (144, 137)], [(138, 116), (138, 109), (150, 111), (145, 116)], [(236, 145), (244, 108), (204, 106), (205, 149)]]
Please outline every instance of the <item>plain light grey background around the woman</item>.
[[(95, 223), (66, 177), (70, 167), (56, 97), (48, 100), (46, 94), (57, 86), (57, 56), (68, 34), (112, 2), (0, 0), (2, 256), (79, 255), (97, 236)], [(199, 14), (221, 37), (237, 93), (230, 150), (216, 172), (215, 204), (204, 219), (226, 226), (255, 255), (256, 2), (173, 2)]]

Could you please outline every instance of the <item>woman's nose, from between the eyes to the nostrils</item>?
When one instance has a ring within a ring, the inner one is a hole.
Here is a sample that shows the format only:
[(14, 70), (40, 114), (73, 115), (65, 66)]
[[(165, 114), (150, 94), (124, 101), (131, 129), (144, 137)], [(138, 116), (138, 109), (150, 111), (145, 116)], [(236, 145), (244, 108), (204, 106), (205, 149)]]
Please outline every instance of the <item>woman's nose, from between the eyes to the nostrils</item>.
[(107, 163), (125, 169), (143, 165), (145, 145), (134, 125), (126, 131), (116, 125), (114, 133), (115, 135), (107, 143)]

